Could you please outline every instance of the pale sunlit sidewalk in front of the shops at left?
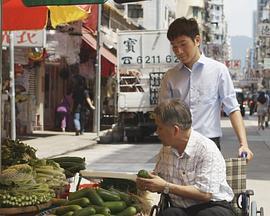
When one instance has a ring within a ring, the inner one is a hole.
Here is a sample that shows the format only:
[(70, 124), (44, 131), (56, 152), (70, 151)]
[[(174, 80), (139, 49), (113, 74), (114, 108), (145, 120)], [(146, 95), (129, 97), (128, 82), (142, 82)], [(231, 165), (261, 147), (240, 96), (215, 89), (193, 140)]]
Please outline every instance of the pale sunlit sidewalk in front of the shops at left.
[[(102, 135), (105, 131), (101, 131)], [(37, 150), (38, 158), (55, 157), (88, 148), (97, 143), (96, 133), (75, 136), (74, 132), (35, 131), (21, 140)]]

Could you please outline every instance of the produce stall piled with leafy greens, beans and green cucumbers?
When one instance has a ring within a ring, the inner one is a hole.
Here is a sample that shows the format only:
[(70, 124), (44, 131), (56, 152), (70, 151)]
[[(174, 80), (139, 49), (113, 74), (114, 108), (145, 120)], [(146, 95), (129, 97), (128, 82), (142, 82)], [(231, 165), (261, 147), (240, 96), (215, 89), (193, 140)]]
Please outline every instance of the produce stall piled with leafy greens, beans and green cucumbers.
[(137, 174), (85, 170), (81, 157), (39, 159), (19, 140), (5, 140), (2, 150), (0, 215), (139, 216), (151, 209)]

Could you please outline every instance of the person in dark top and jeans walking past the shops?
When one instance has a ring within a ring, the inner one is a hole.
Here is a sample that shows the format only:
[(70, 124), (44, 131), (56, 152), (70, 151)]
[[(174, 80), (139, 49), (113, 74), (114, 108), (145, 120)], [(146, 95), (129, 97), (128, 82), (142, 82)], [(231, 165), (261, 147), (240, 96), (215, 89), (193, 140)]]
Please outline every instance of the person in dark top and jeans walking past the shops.
[(84, 133), (86, 112), (89, 109), (94, 110), (95, 107), (89, 96), (86, 80), (79, 74), (74, 76), (73, 84), (73, 121), (75, 126), (75, 135)]

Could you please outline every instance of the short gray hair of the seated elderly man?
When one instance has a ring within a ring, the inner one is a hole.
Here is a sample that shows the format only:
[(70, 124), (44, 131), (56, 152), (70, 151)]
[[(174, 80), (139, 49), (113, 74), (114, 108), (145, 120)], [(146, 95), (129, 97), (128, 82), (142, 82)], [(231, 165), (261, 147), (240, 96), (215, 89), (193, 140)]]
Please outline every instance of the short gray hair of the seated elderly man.
[(155, 116), (166, 125), (178, 125), (183, 130), (191, 128), (192, 119), (188, 106), (179, 99), (161, 102), (154, 110)]

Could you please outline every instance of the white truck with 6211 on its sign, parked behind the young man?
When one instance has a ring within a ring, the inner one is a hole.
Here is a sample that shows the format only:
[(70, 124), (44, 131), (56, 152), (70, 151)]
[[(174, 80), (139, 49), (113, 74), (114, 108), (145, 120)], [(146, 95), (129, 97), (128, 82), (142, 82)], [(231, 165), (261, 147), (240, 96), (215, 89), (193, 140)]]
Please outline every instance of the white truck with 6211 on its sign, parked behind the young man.
[(124, 139), (142, 141), (156, 130), (152, 111), (164, 72), (178, 63), (166, 31), (118, 32), (118, 126)]

